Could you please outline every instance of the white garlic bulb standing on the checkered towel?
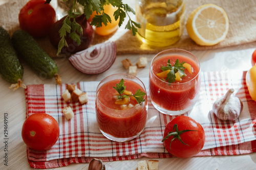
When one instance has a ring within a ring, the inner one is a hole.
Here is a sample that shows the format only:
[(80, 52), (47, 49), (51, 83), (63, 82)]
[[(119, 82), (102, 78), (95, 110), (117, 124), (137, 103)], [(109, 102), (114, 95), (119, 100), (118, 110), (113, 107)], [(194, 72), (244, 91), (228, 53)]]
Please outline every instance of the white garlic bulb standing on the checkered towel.
[(235, 120), (243, 110), (242, 101), (236, 96), (231, 96), (233, 92), (234, 89), (229, 89), (212, 105), (212, 111), (221, 120)]

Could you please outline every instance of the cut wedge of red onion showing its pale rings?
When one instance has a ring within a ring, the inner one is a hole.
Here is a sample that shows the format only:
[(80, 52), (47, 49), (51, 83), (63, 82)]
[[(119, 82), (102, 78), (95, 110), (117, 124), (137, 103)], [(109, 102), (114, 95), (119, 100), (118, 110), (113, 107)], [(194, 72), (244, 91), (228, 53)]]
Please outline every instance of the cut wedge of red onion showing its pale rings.
[(69, 58), (71, 64), (84, 74), (100, 74), (116, 60), (116, 43), (103, 42), (77, 52)]

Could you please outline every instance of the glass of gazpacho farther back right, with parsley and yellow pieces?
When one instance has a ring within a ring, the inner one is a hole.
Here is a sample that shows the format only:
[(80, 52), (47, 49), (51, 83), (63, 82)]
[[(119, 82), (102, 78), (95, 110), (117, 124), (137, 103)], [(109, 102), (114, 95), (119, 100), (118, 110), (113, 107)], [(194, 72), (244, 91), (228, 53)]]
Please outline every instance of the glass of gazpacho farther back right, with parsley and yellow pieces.
[(149, 91), (153, 106), (168, 115), (189, 112), (200, 89), (200, 63), (180, 49), (158, 53), (151, 62)]

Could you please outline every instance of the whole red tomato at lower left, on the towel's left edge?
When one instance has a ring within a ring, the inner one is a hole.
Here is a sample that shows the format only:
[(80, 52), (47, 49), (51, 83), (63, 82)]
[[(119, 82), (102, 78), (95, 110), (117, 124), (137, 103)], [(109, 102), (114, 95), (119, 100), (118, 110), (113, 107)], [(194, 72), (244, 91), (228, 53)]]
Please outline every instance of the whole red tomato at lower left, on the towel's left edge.
[(27, 146), (33, 150), (48, 150), (59, 138), (59, 125), (49, 114), (32, 114), (23, 124), (22, 138)]

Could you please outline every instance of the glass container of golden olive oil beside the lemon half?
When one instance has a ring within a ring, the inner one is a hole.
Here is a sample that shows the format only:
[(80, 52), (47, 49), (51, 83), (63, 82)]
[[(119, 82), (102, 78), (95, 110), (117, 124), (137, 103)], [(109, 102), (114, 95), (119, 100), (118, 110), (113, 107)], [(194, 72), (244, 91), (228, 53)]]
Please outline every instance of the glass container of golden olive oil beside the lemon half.
[[(185, 0), (184, 0), (185, 1)], [(144, 43), (163, 47), (176, 43), (185, 26), (183, 0), (137, 0), (137, 37)]]

